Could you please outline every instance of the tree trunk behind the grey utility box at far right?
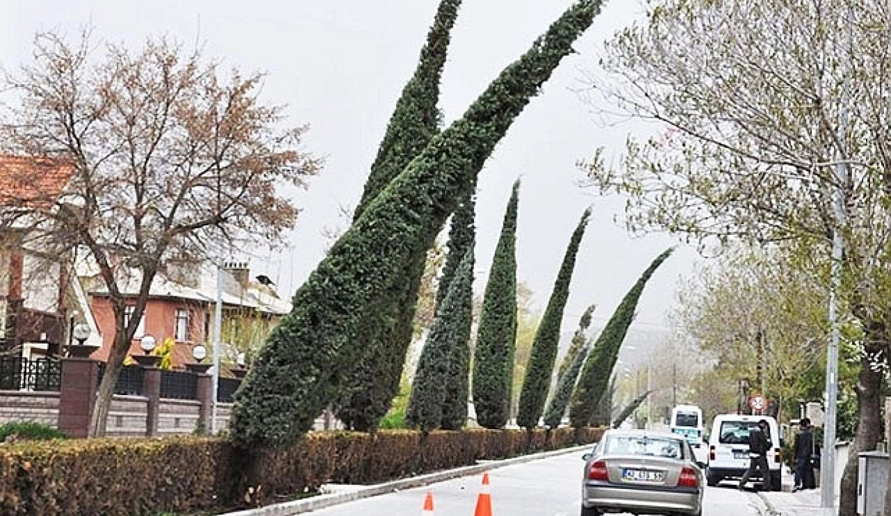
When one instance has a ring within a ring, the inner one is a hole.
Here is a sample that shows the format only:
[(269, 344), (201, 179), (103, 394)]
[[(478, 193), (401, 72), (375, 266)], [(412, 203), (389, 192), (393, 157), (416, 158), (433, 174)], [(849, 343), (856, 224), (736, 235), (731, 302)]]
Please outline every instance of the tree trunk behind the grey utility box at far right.
[[(871, 367), (870, 357), (874, 353), (874, 350), (867, 350), (866, 355), (860, 360), (857, 382), (857, 436), (848, 455), (845, 474), (841, 479), (838, 516), (857, 516), (857, 455), (863, 451), (876, 449), (879, 443), (882, 375), (873, 371)], [(827, 453), (835, 453), (835, 450), (823, 450), (823, 454)]]

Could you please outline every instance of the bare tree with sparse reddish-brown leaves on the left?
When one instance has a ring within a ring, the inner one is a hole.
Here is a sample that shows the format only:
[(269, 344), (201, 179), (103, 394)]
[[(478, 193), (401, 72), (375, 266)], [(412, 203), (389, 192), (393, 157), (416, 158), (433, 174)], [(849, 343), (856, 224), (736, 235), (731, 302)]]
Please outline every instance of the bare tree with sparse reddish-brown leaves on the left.
[[(39, 34), (33, 62), (4, 79), (16, 97), (0, 118), (0, 141), (75, 167), (61, 198), (29, 214), (29, 232), (60, 256), (83, 250), (114, 307), (90, 424), (102, 435), (159, 268), (218, 260), (248, 242), (274, 246), (298, 214), (284, 193), (320, 162), (300, 149), (305, 127), (283, 126), (283, 107), (260, 101), (263, 74), (224, 70), (165, 38), (131, 51), (93, 46), (86, 33), (74, 44)], [(6, 215), (22, 223), (20, 212)], [(128, 282), (138, 285), (135, 298)], [(128, 303), (135, 310), (125, 318)]]

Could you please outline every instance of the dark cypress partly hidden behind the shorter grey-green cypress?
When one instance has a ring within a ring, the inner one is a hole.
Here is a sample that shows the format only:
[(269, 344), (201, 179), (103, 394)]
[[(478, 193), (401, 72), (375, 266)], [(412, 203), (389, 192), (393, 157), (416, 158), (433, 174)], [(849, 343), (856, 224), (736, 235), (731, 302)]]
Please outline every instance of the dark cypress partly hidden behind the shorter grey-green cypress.
[[(470, 270), (474, 267), (473, 242), (476, 238), (476, 228), (473, 224), (475, 214), (474, 191), (462, 199), (461, 204), (452, 216), (452, 228), (449, 230), (448, 255), (443, 267), (443, 275), (439, 290), (437, 291), (437, 306), (445, 301), (444, 286), (454, 281), (460, 264), (458, 257), (470, 260)], [(458, 314), (463, 319), (456, 320), (460, 332), (454, 343), (451, 355), (449, 355), (449, 373), (446, 383), (446, 400), (443, 404), (442, 428), (446, 430), (459, 430), (467, 422), (467, 399), (470, 383), (470, 327), (473, 323), (473, 284), (467, 285), (468, 293), (462, 296), (466, 303), (464, 310)]]

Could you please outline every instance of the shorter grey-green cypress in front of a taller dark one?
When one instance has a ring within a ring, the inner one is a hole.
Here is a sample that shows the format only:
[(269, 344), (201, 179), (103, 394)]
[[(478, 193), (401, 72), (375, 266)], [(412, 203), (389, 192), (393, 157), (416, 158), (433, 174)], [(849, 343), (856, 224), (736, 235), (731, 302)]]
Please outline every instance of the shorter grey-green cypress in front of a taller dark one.
[[(427, 343), (418, 361), (418, 371), (414, 375), (405, 422), (422, 431), (436, 430), (442, 424), (446, 385), (455, 382), (450, 376), (452, 355), (456, 350), (466, 350), (470, 339), (472, 285), (473, 250), (470, 249), (455, 270), (446, 297), (437, 309), (437, 317), (430, 327)], [(467, 355), (466, 351), (464, 355)], [(466, 391), (466, 379), (464, 384)], [(466, 417), (466, 400), (464, 414)]]

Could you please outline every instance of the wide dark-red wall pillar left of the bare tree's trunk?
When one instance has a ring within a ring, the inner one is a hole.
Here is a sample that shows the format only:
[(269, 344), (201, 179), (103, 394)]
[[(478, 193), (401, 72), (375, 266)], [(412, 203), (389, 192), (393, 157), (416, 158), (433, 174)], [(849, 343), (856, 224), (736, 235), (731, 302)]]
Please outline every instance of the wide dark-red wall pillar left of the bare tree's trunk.
[(73, 438), (86, 438), (99, 386), (99, 361), (63, 359), (59, 393), (59, 430)]

